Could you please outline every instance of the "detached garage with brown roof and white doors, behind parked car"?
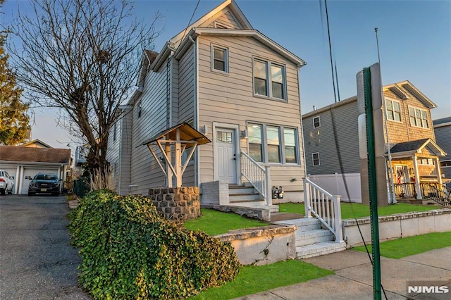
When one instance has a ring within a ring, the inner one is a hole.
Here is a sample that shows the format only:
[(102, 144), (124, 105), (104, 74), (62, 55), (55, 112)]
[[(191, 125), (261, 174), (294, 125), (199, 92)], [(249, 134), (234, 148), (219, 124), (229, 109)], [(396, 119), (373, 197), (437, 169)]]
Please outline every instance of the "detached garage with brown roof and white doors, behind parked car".
[[(70, 149), (0, 146), (0, 169), (14, 177), (14, 194), (27, 194), (28, 185), (37, 173), (55, 173), (66, 180)], [(60, 192), (62, 185), (60, 187)]]

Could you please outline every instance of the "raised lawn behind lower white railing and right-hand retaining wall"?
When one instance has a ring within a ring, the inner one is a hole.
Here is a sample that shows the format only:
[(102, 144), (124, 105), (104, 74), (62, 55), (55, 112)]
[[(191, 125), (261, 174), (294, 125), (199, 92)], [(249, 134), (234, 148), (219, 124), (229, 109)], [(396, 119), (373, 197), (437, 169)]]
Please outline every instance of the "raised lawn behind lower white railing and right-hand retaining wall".
[[(389, 206), (379, 207), (378, 215), (393, 215), (395, 213), (409, 213), (412, 211), (431, 211), (432, 209), (438, 208), (440, 207), (398, 203)], [(304, 204), (297, 203), (279, 204), (279, 211), (281, 213), (304, 214)], [(359, 203), (342, 203), (341, 216), (343, 220), (369, 217), (369, 206)]]

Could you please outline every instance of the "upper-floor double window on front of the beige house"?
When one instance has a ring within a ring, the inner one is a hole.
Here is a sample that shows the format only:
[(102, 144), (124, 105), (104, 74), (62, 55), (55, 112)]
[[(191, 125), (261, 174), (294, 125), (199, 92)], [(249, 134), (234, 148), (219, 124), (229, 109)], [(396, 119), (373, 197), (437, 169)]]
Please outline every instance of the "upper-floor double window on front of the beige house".
[(254, 94), (276, 99), (286, 99), (285, 95), (285, 67), (254, 59)]

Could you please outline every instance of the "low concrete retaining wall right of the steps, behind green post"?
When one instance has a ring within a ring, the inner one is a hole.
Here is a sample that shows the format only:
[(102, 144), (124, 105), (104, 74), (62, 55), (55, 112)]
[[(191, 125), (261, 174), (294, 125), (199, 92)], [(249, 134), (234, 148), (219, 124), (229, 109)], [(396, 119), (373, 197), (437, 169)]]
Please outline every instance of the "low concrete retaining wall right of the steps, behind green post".
[[(357, 223), (362, 230), (365, 242), (371, 243), (369, 217), (357, 219), (357, 222), (356, 220), (343, 220), (343, 236), (347, 248), (364, 244)], [(447, 231), (451, 231), (451, 209), (449, 208), (379, 217), (379, 237), (381, 241)]]

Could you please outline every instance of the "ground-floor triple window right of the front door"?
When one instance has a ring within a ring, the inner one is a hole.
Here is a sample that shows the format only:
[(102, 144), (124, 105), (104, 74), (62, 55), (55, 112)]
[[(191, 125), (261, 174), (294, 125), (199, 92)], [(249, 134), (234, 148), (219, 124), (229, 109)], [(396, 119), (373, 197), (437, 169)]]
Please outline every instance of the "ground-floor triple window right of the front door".
[(261, 163), (299, 163), (297, 129), (266, 124), (248, 124), (249, 156)]

